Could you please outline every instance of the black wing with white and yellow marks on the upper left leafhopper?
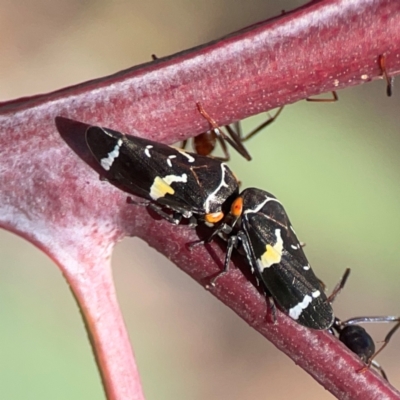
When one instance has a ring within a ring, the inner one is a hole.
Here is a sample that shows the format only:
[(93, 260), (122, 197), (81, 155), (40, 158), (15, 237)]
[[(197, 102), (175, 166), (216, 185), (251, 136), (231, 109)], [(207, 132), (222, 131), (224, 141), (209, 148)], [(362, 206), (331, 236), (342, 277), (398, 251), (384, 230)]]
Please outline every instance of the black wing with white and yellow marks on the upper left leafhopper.
[(100, 127), (88, 128), (86, 142), (111, 182), (189, 215), (220, 211), (238, 191), (231, 170), (209, 157)]

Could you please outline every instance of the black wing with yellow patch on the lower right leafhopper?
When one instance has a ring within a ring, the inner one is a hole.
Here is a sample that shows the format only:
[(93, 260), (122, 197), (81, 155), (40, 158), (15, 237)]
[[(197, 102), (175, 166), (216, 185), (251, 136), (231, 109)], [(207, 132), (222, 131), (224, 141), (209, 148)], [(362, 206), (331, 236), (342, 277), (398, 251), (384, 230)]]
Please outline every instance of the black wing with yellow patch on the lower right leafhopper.
[(334, 321), (332, 307), (283, 206), (269, 193), (263, 193), (264, 202), (258, 199), (259, 207), (253, 204), (242, 219), (255, 274), (291, 318), (309, 328), (328, 329)]

